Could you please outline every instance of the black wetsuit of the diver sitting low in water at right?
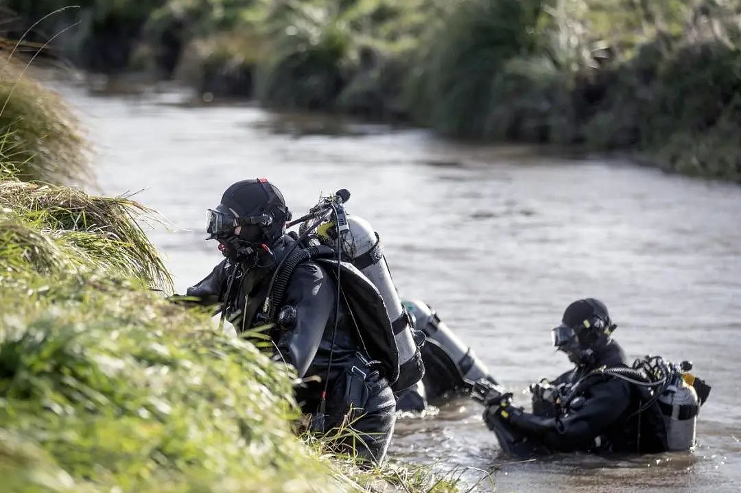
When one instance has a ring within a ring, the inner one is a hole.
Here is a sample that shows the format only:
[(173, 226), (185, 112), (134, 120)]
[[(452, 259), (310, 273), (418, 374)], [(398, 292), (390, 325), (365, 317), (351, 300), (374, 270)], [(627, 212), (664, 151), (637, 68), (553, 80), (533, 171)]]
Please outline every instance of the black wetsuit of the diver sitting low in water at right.
[[(556, 378), (551, 383), (576, 384), (600, 366), (628, 366), (620, 346), (611, 341), (594, 354), (592, 363), (579, 366)], [(543, 452), (660, 452), (663, 429), (659, 420), (648, 413), (635, 414), (644, 397), (637, 386), (610, 376), (593, 376), (582, 382), (581, 390), (572, 395), (582, 397), (579, 409), (565, 409), (556, 417), (536, 416), (512, 409), (502, 423), (487, 414), (488, 426), (505, 426), (516, 435), (531, 440), (532, 449)], [(565, 403), (568, 406), (569, 403)], [(641, 421), (643, 420), (643, 422)], [(640, 443), (640, 446), (639, 446)]]

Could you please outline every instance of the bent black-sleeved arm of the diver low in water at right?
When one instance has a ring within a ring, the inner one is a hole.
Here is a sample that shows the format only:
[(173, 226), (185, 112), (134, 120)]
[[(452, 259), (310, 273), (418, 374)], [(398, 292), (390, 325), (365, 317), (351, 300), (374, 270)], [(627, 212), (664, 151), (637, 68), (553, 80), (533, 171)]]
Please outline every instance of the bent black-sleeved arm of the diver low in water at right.
[(552, 449), (572, 450), (589, 446), (617, 420), (631, 403), (628, 383), (613, 378), (591, 386), (582, 408), (560, 417), (511, 413), (510, 423), (525, 435)]

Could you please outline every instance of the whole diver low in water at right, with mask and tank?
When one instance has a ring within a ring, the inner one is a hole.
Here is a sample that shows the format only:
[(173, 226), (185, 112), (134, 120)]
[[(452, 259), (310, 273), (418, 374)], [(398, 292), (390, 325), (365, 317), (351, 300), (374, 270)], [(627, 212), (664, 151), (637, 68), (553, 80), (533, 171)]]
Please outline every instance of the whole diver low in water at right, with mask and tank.
[(484, 421), (508, 455), (552, 452), (653, 453), (689, 450), (710, 387), (689, 373), (691, 363), (647, 356), (629, 365), (604, 303), (574, 301), (552, 331), (554, 346), (574, 369), (531, 386), (533, 413), (511, 393), (483, 382), (473, 391)]

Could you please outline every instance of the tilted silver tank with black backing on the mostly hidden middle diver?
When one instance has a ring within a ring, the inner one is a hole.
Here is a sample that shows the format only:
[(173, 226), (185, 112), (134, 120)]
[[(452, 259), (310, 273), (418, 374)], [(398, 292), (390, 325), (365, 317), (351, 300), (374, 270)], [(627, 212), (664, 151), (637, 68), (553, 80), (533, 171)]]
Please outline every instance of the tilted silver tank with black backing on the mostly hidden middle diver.
[(419, 300), (404, 301), (404, 306), (413, 316), (416, 329), (427, 337), (422, 349), (428, 378), (425, 389), (428, 400), (434, 400), (446, 392), (464, 389), (471, 390), (473, 383), (488, 380), (496, 384), (482, 360), (476, 357), (473, 349), (466, 346), (453, 331), (440, 321), (437, 313), (427, 303)]

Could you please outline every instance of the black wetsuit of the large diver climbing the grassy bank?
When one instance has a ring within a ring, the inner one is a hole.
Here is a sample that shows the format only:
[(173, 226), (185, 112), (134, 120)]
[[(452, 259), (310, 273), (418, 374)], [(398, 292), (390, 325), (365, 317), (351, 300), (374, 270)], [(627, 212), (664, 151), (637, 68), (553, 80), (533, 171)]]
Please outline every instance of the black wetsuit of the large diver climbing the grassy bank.
[[(286, 255), (293, 238), (283, 236), (273, 252), (276, 259)], [(242, 267), (222, 261), (213, 272), (187, 295), (201, 298), (203, 303), (222, 303), (226, 317), (239, 332), (247, 314), (245, 329), (257, 323), (256, 314), (264, 303), (270, 284), (271, 268), (252, 269), (233, 282), (233, 295), (225, 299), (230, 275)], [(245, 309), (245, 300), (246, 309)], [(278, 358), (296, 368), (299, 377), (317, 375), (322, 383), (310, 383), (297, 390), (296, 400), (302, 411), (315, 414), (324, 389), (330, 358), (325, 431), (351, 423), (362, 437), (362, 443), (351, 443), (359, 456), (377, 463), (385, 457), (396, 421), (396, 402), (388, 381), (379, 365), (369, 361), (363, 352), (355, 326), (350, 323), (345, 303), (340, 303), (339, 320), (334, 333), (336, 316), (336, 282), (324, 267), (307, 261), (296, 266), (286, 289), (284, 306), (296, 308), (296, 325), (292, 329), (275, 330), (271, 339), (279, 350)], [(350, 412), (353, 409), (353, 412)], [(314, 420), (314, 423), (318, 421)]]

